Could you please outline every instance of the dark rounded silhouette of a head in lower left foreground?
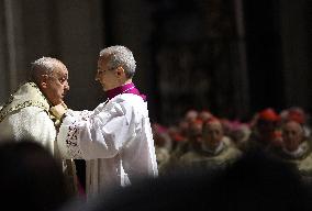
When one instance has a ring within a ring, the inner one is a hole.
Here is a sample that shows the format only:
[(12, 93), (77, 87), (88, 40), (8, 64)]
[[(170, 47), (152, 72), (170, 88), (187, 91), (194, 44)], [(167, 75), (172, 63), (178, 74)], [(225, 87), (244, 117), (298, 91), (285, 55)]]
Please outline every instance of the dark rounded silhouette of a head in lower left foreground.
[(2, 208), (47, 211), (69, 199), (62, 166), (36, 142), (1, 142), (0, 165)]

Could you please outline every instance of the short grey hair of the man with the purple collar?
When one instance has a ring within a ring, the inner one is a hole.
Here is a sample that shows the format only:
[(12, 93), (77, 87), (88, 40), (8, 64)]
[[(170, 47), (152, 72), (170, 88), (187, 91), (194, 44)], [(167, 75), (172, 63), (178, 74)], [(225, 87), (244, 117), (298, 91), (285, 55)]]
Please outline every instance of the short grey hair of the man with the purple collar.
[(135, 74), (135, 59), (132, 52), (121, 45), (110, 46), (100, 52), (100, 57), (109, 57), (108, 68), (114, 69), (119, 66), (123, 67), (127, 78), (132, 78)]

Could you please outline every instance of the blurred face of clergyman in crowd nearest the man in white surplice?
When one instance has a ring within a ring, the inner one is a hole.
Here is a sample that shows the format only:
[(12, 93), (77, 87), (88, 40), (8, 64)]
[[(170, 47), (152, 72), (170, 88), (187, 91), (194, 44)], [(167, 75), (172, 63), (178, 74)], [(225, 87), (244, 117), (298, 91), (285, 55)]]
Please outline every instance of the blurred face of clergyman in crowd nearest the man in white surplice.
[(202, 141), (208, 147), (215, 148), (216, 146), (219, 146), (222, 137), (223, 129), (220, 122), (213, 121), (204, 125), (202, 132)]

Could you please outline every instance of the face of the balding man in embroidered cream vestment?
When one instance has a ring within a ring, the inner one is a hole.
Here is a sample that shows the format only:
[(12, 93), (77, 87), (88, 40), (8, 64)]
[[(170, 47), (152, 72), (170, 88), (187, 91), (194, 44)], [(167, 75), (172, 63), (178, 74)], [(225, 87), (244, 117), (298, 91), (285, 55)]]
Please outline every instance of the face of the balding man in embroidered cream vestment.
[(52, 75), (47, 75), (42, 91), (53, 106), (63, 102), (69, 90), (68, 70), (64, 65), (57, 65)]

